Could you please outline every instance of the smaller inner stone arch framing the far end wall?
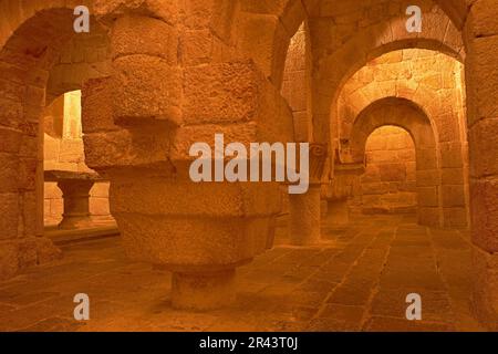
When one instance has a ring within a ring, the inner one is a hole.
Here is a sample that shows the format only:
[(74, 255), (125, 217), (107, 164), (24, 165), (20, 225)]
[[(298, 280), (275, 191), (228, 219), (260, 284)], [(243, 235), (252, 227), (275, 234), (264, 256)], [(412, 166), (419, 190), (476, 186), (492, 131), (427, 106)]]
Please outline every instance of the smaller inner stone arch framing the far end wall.
[(364, 163), (369, 136), (386, 125), (405, 129), (415, 144), (418, 222), (433, 227), (442, 226), (443, 205), (437, 144), (430, 121), (417, 104), (405, 98), (385, 97), (364, 108), (356, 117), (351, 132), (352, 160)]

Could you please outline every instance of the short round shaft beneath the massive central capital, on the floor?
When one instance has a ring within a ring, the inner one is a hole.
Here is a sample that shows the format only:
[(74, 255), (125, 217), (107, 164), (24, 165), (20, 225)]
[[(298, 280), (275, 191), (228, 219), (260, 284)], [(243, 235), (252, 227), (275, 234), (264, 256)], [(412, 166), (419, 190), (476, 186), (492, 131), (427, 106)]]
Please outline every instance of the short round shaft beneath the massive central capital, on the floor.
[(230, 305), (236, 300), (236, 270), (174, 272), (172, 304), (179, 310), (208, 311)]

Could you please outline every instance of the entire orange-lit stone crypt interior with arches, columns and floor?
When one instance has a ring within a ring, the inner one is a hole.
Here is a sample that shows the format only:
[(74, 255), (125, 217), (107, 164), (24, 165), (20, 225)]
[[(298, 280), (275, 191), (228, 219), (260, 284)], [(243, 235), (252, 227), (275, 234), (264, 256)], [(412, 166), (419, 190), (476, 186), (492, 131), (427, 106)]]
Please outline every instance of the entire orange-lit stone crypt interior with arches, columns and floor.
[(498, 1), (80, 2), (0, 0), (0, 331), (498, 330)]

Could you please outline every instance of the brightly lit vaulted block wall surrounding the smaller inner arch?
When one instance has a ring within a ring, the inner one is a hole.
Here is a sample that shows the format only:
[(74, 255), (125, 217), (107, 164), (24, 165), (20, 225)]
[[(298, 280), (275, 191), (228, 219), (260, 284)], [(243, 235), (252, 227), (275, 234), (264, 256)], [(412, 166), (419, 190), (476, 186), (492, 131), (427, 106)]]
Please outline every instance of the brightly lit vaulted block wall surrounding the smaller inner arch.
[(421, 49), (393, 51), (370, 61), (350, 77), (333, 116), (338, 118), (339, 136), (345, 142), (341, 152), (347, 153), (347, 145), (356, 144), (351, 132), (375, 103), (397, 98), (419, 108), (428, 122), (424, 133), (406, 114), (373, 117), (371, 126), (398, 125), (414, 136), (419, 219), (426, 225), (446, 228), (469, 225), (463, 76), (461, 63), (444, 53)]

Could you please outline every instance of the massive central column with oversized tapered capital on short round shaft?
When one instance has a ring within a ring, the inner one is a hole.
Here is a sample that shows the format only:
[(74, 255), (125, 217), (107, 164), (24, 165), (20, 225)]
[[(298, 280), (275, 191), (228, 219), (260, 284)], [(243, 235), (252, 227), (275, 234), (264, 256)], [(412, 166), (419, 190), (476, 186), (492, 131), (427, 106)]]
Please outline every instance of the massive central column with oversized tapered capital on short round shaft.
[[(194, 183), (189, 150), (204, 143), (214, 152), (215, 134), (248, 150), (250, 143), (291, 142), (292, 115), (251, 61), (187, 66), (175, 24), (138, 10), (112, 23), (114, 74), (84, 85), (85, 162), (111, 181), (111, 212), (128, 257), (173, 272), (173, 305), (228, 305), (236, 268), (271, 240), (280, 189)], [(215, 166), (212, 155), (207, 160)]]

